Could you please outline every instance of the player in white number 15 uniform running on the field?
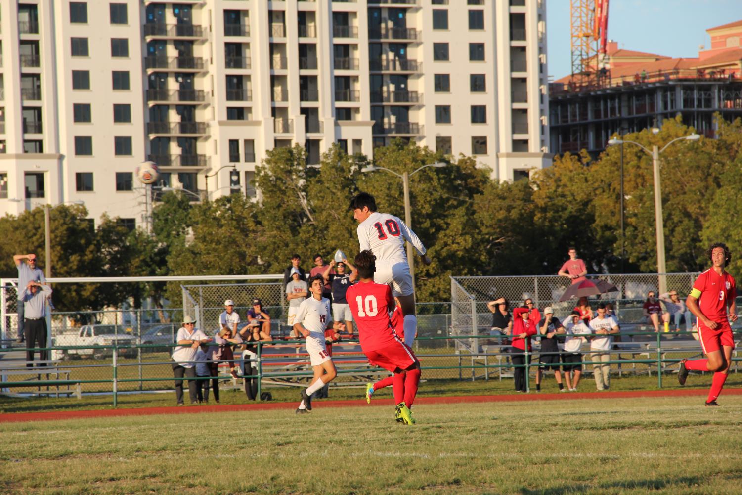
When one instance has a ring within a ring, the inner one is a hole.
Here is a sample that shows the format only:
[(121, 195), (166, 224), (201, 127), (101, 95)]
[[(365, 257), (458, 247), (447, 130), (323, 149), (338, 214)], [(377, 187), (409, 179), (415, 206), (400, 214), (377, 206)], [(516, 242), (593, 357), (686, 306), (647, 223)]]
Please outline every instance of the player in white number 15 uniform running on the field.
[(329, 299), (322, 297), (324, 278), (317, 275), (309, 279), (309, 298), (301, 301), (295, 317), (294, 330), (306, 338), (306, 351), (315, 372), (312, 384), (301, 390), (301, 404), (296, 410), (303, 414), (312, 410), (312, 393), (320, 390), (335, 378), (335, 364), (325, 347), (325, 329), (345, 330), (345, 324), (332, 321)]

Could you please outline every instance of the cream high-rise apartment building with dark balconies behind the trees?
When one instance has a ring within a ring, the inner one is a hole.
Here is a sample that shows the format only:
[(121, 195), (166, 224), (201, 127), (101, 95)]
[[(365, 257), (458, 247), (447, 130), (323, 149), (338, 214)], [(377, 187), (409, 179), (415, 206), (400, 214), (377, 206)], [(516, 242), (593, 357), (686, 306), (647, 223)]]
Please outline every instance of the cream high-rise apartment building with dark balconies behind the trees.
[(193, 200), (252, 196), (297, 143), (313, 164), (399, 137), (498, 180), (551, 161), (543, 0), (2, 0), (0, 30), (0, 213), (134, 226), (142, 161)]

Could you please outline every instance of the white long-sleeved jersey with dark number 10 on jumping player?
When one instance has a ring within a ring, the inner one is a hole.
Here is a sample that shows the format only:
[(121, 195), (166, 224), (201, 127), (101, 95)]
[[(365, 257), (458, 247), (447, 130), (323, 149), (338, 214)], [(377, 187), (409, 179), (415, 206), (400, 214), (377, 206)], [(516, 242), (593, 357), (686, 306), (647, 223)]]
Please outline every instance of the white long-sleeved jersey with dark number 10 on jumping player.
[(402, 220), (388, 213), (373, 212), (358, 225), (358, 243), (361, 251), (370, 249), (377, 261), (407, 260), (404, 254), (404, 240), (407, 239), (420, 255), (425, 254), (425, 246)]

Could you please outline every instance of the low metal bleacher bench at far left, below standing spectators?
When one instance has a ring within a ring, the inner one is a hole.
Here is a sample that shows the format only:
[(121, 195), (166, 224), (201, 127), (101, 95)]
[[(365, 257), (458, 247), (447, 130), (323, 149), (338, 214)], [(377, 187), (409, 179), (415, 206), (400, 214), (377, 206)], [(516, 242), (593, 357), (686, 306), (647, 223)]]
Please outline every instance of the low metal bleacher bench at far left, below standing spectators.
[[(36, 395), (54, 394), (59, 397), (60, 394), (74, 394), (77, 399), (82, 399), (81, 381), (70, 380), (72, 370), (62, 369), (59, 367), (60, 363), (61, 361), (0, 361), (0, 391), (7, 393), (5, 389), (36, 387)], [(28, 367), (28, 364), (31, 366)], [(50, 378), (52, 376), (54, 378)], [(74, 385), (74, 388), (70, 388), (70, 385)], [(61, 389), (62, 386), (65, 388)], [(42, 387), (46, 387), (46, 390), (42, 391)], [(50, 390), (49, 387), (55, 387), (55, 390)]]

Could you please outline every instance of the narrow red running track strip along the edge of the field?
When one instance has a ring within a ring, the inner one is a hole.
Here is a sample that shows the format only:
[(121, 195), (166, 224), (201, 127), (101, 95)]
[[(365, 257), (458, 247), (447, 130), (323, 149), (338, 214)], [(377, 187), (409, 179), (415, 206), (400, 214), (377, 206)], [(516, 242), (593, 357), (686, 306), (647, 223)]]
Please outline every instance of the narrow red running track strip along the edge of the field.
[[(415, 404), (473, 404), (482, 402), (521, 402), (521, 401), (554, 401), (571, 399), (631, 399), (635, 397), (689, 397), (705, 396), (704, 389), (679, 390), (619, 390), (611, 392), (581, 392), (581, 393), (531, 393), (499, 396), (441, 396), (420, 397)], [(723, 396), (742, 395), (742, 389), (724, 390)], [(345, 401), (317, 401), (315, 404), (322, 409), (325, 407), (361, 407), (364, 399)], [(375, 399), (371, 401), (375, 406), (391, 406), (393, 399)], [(252, 404), (224, 404), (213, 406), (182, 406), (182, 407), (137, 407), (131, 409), (99, 409), (54, 411), (50, 413), (7, 413), (0, 414), (0, 423), (53, 421), (60, 419), (104, 418), (116, 416), (151, 416), (154, 414), (191, 414), (191, 413), (227, 413), (232, 411), (264, 411), (264, 410), (293, 410), (295, 402), (259, 402)]]

